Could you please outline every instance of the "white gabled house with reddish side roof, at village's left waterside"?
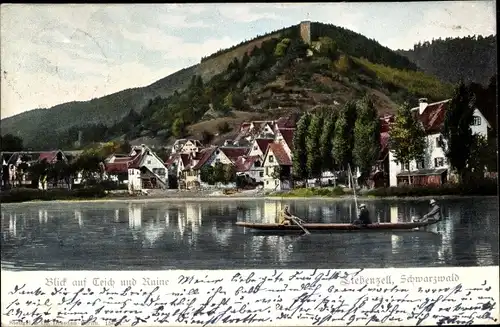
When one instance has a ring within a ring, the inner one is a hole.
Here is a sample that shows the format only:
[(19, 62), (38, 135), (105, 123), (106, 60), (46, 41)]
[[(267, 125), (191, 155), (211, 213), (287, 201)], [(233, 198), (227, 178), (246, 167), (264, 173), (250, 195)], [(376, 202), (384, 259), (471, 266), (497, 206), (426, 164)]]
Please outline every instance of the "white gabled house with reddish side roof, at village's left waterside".
[(128, 156), (111, 157), (105, 167), (109, 175), (127, 172), (130, 192), (168, 188), (167, 168), (163, 160), (145, 145), (133, 147)]

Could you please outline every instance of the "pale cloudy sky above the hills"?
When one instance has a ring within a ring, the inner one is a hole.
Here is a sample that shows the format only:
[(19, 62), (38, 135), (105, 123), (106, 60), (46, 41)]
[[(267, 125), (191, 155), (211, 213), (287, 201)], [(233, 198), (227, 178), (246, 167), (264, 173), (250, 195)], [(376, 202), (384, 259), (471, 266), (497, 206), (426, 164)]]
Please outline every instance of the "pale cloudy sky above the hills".
[(1, 118), (149, 85), (201, 57), (303, 20), (409, 49), (496, 34), (494, 1), (2, 4)]

